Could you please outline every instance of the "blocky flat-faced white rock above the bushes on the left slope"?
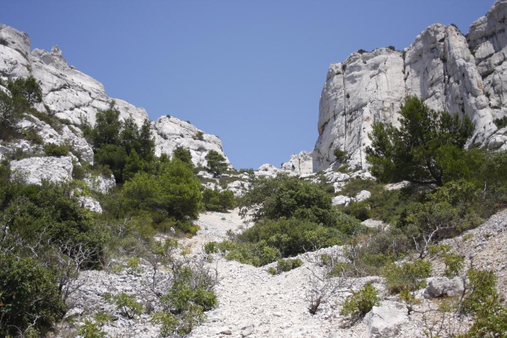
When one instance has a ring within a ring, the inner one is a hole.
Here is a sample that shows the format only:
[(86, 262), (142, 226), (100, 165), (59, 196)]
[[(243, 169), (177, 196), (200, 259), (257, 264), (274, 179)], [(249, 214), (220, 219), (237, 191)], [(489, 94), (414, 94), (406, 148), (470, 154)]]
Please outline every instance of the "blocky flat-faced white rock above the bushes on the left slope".
[(72, 158), (64, 157), (31, 157), (19, 161), (11, 161), (11, 170), (24, 176), (29, 184), (41, 184), (42, 180), (52, 182), (72, 179)]

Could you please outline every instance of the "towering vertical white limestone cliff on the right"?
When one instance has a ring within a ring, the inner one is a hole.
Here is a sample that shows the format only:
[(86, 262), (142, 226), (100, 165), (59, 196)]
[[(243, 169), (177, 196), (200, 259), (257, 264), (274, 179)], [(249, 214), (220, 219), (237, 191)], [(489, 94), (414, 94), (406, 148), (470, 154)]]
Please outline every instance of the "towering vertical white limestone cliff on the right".
[(507, 131), (498, 132), (493, 120), (507, 114), (506, 16), (507, 0), (499, 0), (468, 36), (454, 25), (433, 24), (403, 51), (358, 51), (331, 64), (320, 97), (313, 171), (334, 161), (335, 148), (348, 153), (350, 167), (366, 169), (372, 123), (396, 126), (407, 95), (468, 116), (476, 126), (468, 145), (503, 146)]

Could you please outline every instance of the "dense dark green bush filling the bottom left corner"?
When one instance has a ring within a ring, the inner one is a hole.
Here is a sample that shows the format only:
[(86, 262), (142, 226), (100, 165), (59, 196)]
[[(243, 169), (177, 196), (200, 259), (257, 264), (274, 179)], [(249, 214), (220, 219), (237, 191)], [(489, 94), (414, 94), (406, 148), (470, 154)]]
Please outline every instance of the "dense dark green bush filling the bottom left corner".
[(0, 254), (0, 335), (18, 336), (30, 326), (40, 334), (59, 321), (65, 305), (55, 275), (32, 258)]

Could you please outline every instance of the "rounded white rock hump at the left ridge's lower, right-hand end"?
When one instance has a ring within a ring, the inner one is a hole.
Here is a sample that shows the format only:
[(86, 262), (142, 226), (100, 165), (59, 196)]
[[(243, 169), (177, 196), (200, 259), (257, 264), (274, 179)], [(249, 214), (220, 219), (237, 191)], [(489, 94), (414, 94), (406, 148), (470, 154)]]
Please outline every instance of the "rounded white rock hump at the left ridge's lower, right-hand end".
[[(214, 150), (229, 159), (224, 154), (222, 141), (215, 135), (204, 134), (192, 124), (176, 119), (162, 116), (153, 123), (155, 133), (155, 154), (167, 154), (172, 156), (172, 151), (177, 146), (189, 149), (192, 155), (192, 162), (195, 165), (206, 166), (206, 155)], [(202, 135), (200, 134), (202, 133)]]

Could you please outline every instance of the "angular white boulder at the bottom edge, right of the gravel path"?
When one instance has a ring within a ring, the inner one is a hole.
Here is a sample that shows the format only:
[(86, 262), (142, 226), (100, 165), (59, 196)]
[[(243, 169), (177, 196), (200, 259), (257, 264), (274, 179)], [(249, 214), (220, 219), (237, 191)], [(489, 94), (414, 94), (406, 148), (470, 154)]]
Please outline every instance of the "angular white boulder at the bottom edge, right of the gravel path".
[(392, 337), (400, 332), (403, 325), (409, 323), (407, 312), (374, 306), (366, 314), (364, 322), (368, 337)]

